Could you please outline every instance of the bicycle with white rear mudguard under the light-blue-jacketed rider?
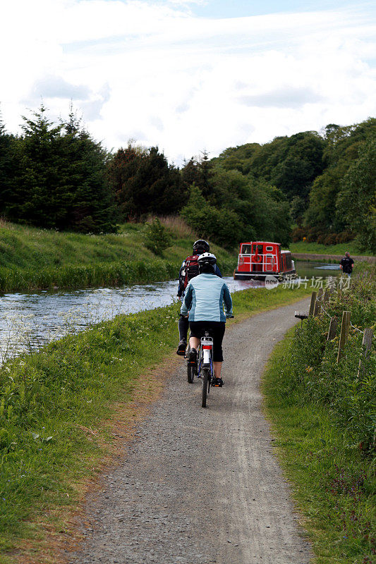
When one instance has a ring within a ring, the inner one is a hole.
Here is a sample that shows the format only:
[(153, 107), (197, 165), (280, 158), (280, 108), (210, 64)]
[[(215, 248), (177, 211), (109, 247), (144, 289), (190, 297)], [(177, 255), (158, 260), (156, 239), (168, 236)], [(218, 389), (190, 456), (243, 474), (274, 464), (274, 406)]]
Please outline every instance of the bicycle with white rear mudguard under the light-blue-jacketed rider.
[[(189, 345), (186, 357), (189, 353)], [(202, 384), (202, 407), (206, 407), (207, 395), (210, 393), (210, 386), (214, 386), (215, 376), (213, 368), (213, 339), (205, 331), (205, 336), (201, 337), (197, 348), (197, 358), (194, 364), (188, 361), (187, 364), (188, 382), (193, 384), (195, 376), (201, 379)]]

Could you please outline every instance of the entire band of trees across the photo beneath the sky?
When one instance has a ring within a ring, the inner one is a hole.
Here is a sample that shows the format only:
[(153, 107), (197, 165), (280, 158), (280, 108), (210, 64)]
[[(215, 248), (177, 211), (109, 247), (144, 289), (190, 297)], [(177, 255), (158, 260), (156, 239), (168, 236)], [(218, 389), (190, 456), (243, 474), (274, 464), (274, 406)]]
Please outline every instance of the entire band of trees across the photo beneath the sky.
[(231, 147), (214, 159), (203, 153), (178, 168), (158, 147), (130, 142), (109, 153), (72, 108), (54, 123), (42, 105), (23, 118), (21, 135), (0, 121), (0, 214), (84, 233), (180, 214), (198, 236), (229, 248), (257, 238), (286, 245), (296, 223), (316, 239), (358, 233), (371, 248), (375, 131), (371, 118), (328, 125), (321, 135)]

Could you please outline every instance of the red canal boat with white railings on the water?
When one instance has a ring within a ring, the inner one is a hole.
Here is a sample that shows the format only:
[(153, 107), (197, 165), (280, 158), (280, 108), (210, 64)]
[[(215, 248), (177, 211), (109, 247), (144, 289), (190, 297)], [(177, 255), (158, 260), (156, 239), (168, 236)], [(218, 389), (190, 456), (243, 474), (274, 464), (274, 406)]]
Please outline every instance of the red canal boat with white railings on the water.
[(263, 280), (265, 276), (284, 278), (296, 274), (295, 264), (290, 251), (281, 250), (280, 243), (253, 241), (241, 243), (238, 266), (234, 270), (236, 280), (256, 278)]

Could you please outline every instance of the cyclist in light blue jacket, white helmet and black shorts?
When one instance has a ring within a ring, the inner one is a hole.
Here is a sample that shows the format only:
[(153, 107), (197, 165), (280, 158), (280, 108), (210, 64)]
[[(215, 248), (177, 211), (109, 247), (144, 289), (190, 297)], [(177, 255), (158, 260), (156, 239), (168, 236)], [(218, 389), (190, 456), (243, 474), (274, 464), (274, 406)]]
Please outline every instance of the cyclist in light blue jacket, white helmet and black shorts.
[(213, 365), (216, 384), (223, 385), (221, 370), (223, 362), (222, 340), (226, 317), (232, 316), (230, 290), (219, 276), (215, 275), (217, 259), (210, 252), (198, 257), (200, 274), (190, 280), (186, 288), (181, 314), (189, 312), (190, 353), (188, 362), (195, 362), (200, 338), (208, 331), (213, 338)]

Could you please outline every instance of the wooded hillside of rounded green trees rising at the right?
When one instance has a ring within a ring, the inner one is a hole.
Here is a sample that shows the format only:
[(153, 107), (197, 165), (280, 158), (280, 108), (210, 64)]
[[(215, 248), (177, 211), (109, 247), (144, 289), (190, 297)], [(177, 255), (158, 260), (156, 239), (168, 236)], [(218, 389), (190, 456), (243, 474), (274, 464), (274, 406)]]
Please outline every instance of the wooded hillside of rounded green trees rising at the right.
[(230, 147), (214, 161), (279, 188), (296, 240), (332, 244), (356, 237), (361, 248), (376, 252), (375, 118)]

